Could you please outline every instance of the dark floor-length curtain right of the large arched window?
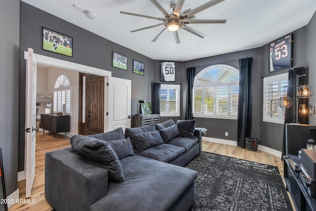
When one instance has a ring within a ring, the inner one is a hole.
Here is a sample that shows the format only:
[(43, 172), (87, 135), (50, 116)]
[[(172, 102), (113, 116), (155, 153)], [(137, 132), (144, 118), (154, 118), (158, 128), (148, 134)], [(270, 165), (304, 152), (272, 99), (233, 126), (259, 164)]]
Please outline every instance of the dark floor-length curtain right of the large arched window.
[(239, 94), (237, 113), (237, 146), (245, 148), (245, 137), (251, 135), (252, 92), (251, 92), (252, 57), (239, 59)]

